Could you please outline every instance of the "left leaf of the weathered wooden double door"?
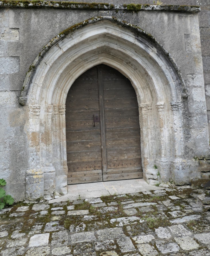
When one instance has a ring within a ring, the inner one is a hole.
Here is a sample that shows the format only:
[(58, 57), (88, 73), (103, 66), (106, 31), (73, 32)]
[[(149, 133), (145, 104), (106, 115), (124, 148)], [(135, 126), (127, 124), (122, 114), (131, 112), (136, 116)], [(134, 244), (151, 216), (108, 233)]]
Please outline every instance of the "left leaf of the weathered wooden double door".
[(75, 80), (66, 106), (68, 184), (102, 181), (100, 123), (93, 127), (93, 114), (100, 115), (97, 67)]

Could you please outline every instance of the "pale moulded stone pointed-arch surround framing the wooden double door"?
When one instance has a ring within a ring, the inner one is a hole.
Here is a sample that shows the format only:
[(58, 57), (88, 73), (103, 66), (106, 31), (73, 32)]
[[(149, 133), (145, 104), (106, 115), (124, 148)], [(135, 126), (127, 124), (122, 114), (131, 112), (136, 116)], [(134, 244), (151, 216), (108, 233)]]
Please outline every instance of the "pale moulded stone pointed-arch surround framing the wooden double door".
[(30, 111), (30, 168), (43, 171), (45, 193), (67, 193), (66, 97), (73, 82), (99, 64), (118, 70), (135, 90), (143, 178), (156, 175), (156, 164), (163, 181), (173, 178), (175, 183), (186, 183), (181, 105), (187, 90), (180, 71), (151, 35), (116, 18), (100, 17), (52, 39), (24, 81), (20, 103)]

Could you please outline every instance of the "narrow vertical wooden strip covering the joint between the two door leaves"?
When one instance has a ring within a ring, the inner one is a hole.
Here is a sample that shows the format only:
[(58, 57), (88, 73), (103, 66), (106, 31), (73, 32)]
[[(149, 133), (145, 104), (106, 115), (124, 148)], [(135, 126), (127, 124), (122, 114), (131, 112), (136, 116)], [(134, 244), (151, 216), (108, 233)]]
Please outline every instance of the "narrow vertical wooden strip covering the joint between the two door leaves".
[(98, 67), (98, 93), (99, 93), (99, 109), (100, 109), (100, 125), (101, 125), (101, 149), (102, 149), (102, 172), (107, 172), (106, 163), (106, 139), (105, 139), (105, 121), (104, 121), (104, 96), (103, 96), (103, 78), (102, 67)]

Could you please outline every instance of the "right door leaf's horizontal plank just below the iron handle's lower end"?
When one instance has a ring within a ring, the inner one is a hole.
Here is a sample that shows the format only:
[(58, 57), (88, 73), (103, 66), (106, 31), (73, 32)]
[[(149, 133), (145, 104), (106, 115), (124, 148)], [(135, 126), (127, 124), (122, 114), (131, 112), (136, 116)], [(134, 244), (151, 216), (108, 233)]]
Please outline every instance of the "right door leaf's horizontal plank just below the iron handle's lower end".
[(106, 129), (105, 135), (106, 139), (137, 138), (140, 137), (140, 128)]

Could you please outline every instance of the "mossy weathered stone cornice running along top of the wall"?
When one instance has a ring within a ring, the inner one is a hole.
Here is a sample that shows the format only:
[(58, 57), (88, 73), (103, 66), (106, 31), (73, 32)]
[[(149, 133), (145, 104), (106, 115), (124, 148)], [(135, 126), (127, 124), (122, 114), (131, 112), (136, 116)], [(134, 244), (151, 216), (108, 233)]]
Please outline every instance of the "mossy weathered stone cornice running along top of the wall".
[(124, 4), (114, 5), (109, 3), (79, 3), (60, 1), (0, 1), (0, 7), (9, 8), (56, 8), (56, 9), (90, 9), (90, 10), (123, 10), (129, 12), (139, 11), (174, 11), (174, 12), (200, 12), (199, 6), (188, 5), (149, 5), (149, 4)]

